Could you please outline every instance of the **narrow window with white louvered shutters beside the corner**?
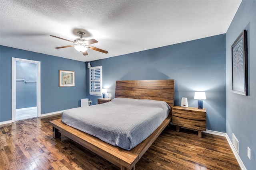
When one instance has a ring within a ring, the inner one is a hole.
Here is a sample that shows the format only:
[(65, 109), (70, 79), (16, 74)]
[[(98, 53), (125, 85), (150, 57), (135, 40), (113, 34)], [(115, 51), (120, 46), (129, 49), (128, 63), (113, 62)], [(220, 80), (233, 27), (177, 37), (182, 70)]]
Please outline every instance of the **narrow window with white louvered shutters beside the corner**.
[(90, 67), (90, 95), (101, 96), (102, 66)]

